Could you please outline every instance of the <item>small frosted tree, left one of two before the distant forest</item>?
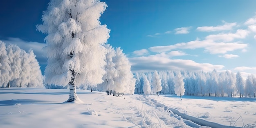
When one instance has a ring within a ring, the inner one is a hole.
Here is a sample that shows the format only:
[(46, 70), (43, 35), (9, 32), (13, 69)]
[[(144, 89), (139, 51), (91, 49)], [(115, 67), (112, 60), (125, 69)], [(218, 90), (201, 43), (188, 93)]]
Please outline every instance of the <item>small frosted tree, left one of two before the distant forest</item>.
[(161, 86), (161, 79), (159, 74), (157, 73), (157, 71), (154, 71), (153, 77), (152, 77), (152, 92), (155, 94), (157, 93), (157, 96), (159, 96), (158, 92), (162, 90), (162, 86)]

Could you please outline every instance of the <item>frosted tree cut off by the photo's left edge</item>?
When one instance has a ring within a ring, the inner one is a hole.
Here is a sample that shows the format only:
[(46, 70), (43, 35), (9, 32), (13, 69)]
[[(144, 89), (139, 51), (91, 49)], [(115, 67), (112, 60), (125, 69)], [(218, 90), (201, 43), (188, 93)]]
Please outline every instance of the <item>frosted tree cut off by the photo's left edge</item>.
[(11, 72), (11, 67), (9, 64), (10, 61), (7, 56), (6, 45), (0, 40), (0, 87), (6, 86), (7, 82), (9, 83), (11, 79), (9, 74), (9, 72)]

